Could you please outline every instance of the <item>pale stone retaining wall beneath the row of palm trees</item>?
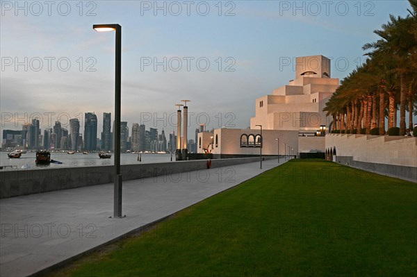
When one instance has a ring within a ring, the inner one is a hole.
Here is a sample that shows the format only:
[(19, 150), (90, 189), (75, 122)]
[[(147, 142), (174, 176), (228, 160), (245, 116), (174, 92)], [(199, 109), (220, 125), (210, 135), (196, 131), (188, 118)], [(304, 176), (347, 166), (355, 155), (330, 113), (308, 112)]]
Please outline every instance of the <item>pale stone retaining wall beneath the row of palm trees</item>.
[(336, 156), (336, 162), (343, 165), (350, 165), (366, 171), (373, 171), (379, 174), (402, 178), (417, 183), (417, 167), (405, 167), (402, 165), (387, 165), (376, 162), (361, 162), (353, 160), (352, 156)]

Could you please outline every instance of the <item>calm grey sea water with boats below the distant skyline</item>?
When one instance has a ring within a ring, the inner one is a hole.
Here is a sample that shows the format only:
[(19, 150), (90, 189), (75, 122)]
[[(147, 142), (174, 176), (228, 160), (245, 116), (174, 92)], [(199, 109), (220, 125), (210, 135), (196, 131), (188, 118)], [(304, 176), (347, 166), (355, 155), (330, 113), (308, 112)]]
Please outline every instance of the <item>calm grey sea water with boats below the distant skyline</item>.
[[(0, 152), (0, 166), (12, 165), (13, 169), (26, 168), (40, 168), (40, 167), (92, 167), (96, 165), (114, 165), (114, 154), (110, 159), (101, 159), (97, 153), (51, 153), (51, 160), (58, 160), (63, 162), (62, 165), (51, 163), (50, 165), (37, 166), (35, 163), (35, 152), (27, 152), (22, 154), (20, 158), (8, 158), (7, 152)], [(120, 164), (122, 165), (137, 165), (139, 163), (153, 163), (153, 162), (170, 162), (170, 154), (142, 154), (142, 161), (138, 161), (138, 154), (122, 153), (120, 154)], [(172, 156), (172, 162), (175, 161), (175, 156)], [(6, 167), (2, 170), (10, 170)]]

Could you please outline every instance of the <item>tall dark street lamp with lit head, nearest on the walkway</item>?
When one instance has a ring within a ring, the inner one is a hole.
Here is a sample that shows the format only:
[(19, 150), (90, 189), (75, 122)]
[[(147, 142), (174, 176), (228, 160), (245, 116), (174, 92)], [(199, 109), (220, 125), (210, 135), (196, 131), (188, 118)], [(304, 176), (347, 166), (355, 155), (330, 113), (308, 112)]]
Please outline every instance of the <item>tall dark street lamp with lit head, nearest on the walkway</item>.
[(95, 24), (95, 31), (115, 31), (115, 168), (113, 217), (122, 217), (122, 174), (120, 174), (120, 110), (122, 87), (122, 26), (119, 24)]

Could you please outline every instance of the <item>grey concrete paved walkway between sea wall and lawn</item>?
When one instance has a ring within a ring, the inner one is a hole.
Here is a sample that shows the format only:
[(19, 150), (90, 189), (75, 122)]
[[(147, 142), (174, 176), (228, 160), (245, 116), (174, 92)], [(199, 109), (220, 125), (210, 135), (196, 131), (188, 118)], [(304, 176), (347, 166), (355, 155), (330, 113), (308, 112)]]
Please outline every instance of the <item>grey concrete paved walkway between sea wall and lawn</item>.
[[(284, 159), (281, 159), (281, 164)], [(0, 276), (30, 276), (227, 190), (277, 160), (123, 183), (122, 219), (113, 184), (0, 200)]]

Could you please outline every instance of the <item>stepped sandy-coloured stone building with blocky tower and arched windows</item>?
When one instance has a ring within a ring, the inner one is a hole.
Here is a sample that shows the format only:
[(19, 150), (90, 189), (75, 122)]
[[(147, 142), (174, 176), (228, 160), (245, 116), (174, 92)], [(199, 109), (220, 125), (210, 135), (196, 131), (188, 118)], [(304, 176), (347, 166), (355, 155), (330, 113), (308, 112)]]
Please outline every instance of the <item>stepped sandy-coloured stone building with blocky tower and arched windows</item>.
[(317, 131), (321, 126), (324, 135), (323, 129), (329, 129), (332, 117), (322, 109), (339, 80), (331, 78), (330, 60), (325, 56), (298, 57), (295, 61), (294, 80), (256, 99), (249, 129), (219, 128), (213, 133), (199, 133), (197, 153), (213, 153), (219, 158), (259, 155), (259, 125), (263, 128), (264, 155), (324, 152), (325, 140)]

